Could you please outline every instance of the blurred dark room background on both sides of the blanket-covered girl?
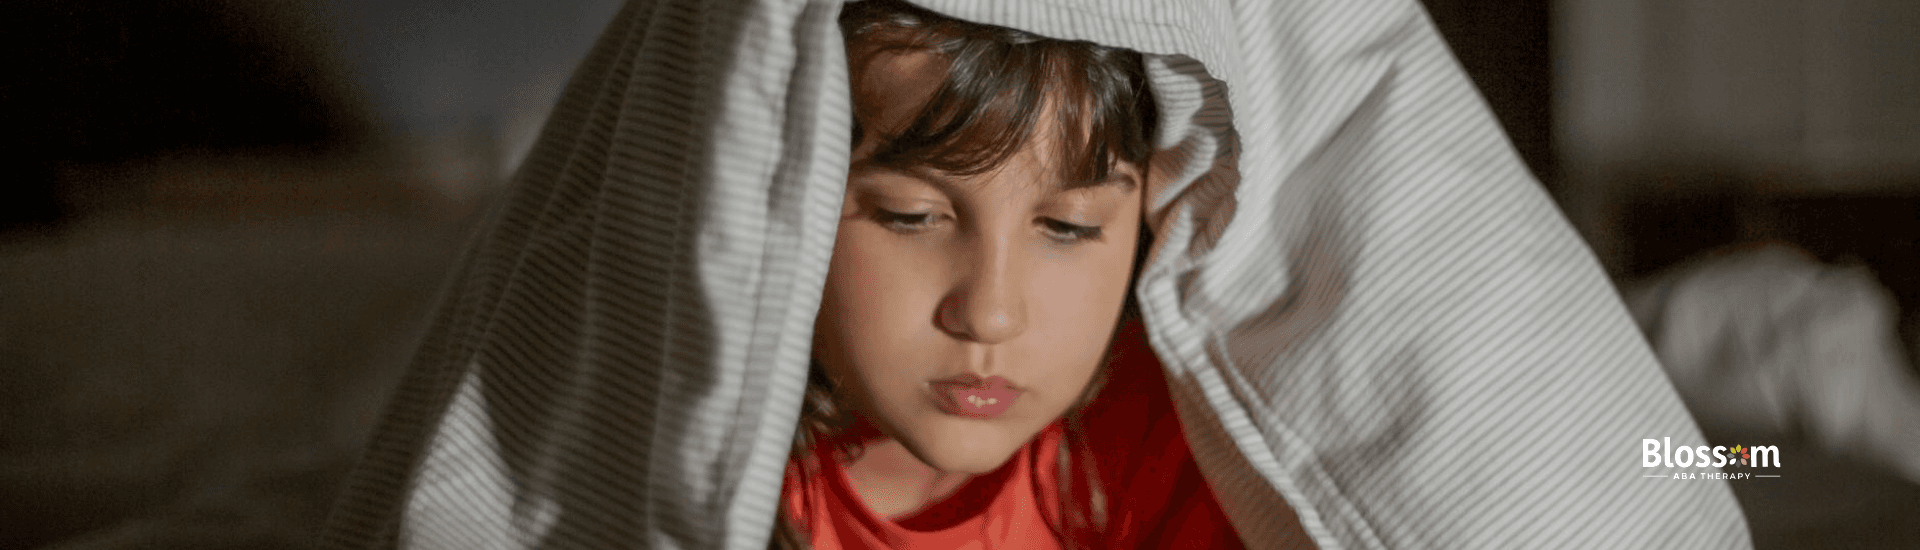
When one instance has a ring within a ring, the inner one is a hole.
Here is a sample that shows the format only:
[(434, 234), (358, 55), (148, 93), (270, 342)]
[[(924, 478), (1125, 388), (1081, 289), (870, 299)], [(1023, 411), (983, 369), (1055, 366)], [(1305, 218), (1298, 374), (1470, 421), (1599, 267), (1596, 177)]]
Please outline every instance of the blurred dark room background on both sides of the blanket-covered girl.
[[(0, 548), (311, 546), (618, 4), (0, 8)], [(1920, 4), (1425, 4), (1709, 438), (1782, 446), (1759, 546), (1920, 548)]]

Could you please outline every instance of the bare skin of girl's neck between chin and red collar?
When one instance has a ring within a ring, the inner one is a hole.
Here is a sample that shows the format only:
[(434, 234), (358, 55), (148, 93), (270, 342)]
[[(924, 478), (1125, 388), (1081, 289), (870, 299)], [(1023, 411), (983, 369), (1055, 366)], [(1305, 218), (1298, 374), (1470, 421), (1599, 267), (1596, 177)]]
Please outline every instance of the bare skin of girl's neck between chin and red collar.
[(868, 440), (847, 463), (852, 492), (881, 517), (899, 517), (947, 498), (972, 475), (939, 471), (893, 438)]

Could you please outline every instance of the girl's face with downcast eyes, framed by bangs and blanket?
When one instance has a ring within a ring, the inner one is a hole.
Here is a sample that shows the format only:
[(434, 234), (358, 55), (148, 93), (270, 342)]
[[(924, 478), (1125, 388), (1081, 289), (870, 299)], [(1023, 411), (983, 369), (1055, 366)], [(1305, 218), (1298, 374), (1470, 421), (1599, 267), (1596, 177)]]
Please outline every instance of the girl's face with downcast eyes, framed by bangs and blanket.
[(1144, 181), (1123, 163), (1108, 183), (1069, 188), (1050, 121), (981, 175), (874, 163), (874, 137), (916, 115), (943, 77), (929, 54), (877, 54), (854, 87), (868, 138), (852, 154), (814, 354), (847, 404), (922, 462), (983, 473), (1066, 413), (1100, 367)]

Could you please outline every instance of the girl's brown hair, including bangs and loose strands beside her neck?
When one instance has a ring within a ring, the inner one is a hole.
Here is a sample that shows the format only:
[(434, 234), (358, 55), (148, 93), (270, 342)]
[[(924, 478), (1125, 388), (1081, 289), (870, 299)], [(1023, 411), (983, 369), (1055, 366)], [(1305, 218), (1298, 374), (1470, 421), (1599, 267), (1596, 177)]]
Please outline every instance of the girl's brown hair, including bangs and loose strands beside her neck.
[[(864, 0), (843, 8), (849, 69), (858, 85), (866, 62), (879, 52), (924, 50), (948, 62), (947, 81), (899, 133), (883, 138), (872, 160), (895, 165), (922, 165), (954, 175), (975, 175), (1000, 165), (1021, 150), (1043, 115), (1056, 115), (1062, 129), (1083, 129), (1083, 140), (1052, 140), (1060, 179), (1102, 181), (1119, 162), (1144, 167), (1160, 113), (1146, 88), (1146, 69), (1139, 52), (1092, 42), (1054, 40), (1006, 27), (968, 23), (939, 15), (900, 0)], [(862, 96), (854, 90), (854, 98)], [(1056, 113), (1043, 113), (1043, 110)], [(870, 129), (854, 119), (854, 146)], [(1142, 225), (1135, 254), (1139, 271), (1148, 248)], [(1129, 285), (1131, 288), (1133, 285)], [(1137, 315), (1127, 296), (1121, 321)], [(1089, 383), (1079, 404), (1092, 400), (1102, 375)], [(1048, 527), (1068, 548), (1092, 546), (1104, 531), (1106, 506), (1098, 490), (1092, 454), (1077, 412), (1068, 412), (1068, 435), (1058, 462), (1060, 517)], [(849, 444), (843, 435), (852, 415), (835, 400), (833, 381), (814, 363), (808, 373), (801, 421), (793, 438), (793, 458), (803, 463), (816, 444)], [(856, 448), (839, 448), (852, 454)], [(806, 548), (806, 537), (791, 523), (781, 500), (774, 548)]]

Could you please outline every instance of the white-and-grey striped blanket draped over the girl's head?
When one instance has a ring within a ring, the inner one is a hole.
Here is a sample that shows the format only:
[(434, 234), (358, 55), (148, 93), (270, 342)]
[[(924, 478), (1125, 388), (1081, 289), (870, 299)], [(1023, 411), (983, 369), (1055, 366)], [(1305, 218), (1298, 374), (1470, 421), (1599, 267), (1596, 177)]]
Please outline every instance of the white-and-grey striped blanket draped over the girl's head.
[[(929, 0), (1148, 54), (1137, 287), (1250, 548), (1745, 548), (1415, 0)], [(336, 548), (764, 548), (845, 188), (839, 0), (632, 0), (467, 250)], [(1311, 540), (1292, 540), (1292, 525)]]

